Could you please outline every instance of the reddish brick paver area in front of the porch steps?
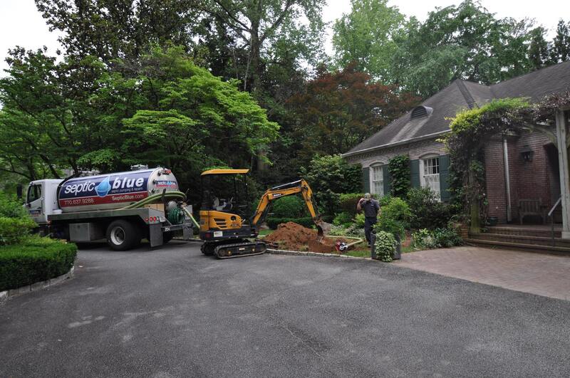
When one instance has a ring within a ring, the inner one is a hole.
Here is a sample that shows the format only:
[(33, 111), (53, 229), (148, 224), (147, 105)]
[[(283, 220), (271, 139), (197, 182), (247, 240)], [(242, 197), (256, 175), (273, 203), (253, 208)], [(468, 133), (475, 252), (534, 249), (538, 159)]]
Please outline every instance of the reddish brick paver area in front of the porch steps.
[(570, 257), (457, 247), (405, 253), (398, 266), (570, 300)]

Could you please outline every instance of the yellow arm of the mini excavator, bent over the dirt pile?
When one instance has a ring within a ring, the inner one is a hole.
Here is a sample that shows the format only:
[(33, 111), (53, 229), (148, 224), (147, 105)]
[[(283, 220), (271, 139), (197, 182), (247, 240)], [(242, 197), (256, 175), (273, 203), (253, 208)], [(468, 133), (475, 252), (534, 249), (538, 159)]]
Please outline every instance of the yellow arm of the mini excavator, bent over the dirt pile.
[(321, 215), (318, 214), (318, 209), (313, 199), (313, 191), (304, 179), (268, 189), (263, 196), (261, 196), (261, 201), (259, 201), (259, 205), (257, 205), (257, 209), (252, 219), (252, 226), (259, 231), (259, 226), (263, 223), (269, 209), (271, 208), (270, 205), (275, 199), (299, 193), (303, 196), (307, 209), (309, 209), (309, 214), (311, 214), (311, 218), (313, 218), (318, 230), (318, 236), (320, 238), (323, 237), (323, 221), (321, 220)]

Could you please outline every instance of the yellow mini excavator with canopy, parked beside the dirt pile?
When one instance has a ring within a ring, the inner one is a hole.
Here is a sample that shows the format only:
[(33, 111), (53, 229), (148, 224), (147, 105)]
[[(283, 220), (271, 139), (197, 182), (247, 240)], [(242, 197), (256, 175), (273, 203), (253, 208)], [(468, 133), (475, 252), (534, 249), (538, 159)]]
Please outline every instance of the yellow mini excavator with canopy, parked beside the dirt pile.
[[(259, 255), (266, 251), (264, 241), (257, 239), (259, 226), (275, 199), (301, 194), (323, 238), (321, 216), (313, 191), (304, 179), (279, 185), (265, 191), (253, 216), (247, 192), (249, 169), (211, 169), (202, 172), (202, 206), (199, 237), (202, 253), (217, 258)], [(239, 190), (242, 189), (242, 190)]]

